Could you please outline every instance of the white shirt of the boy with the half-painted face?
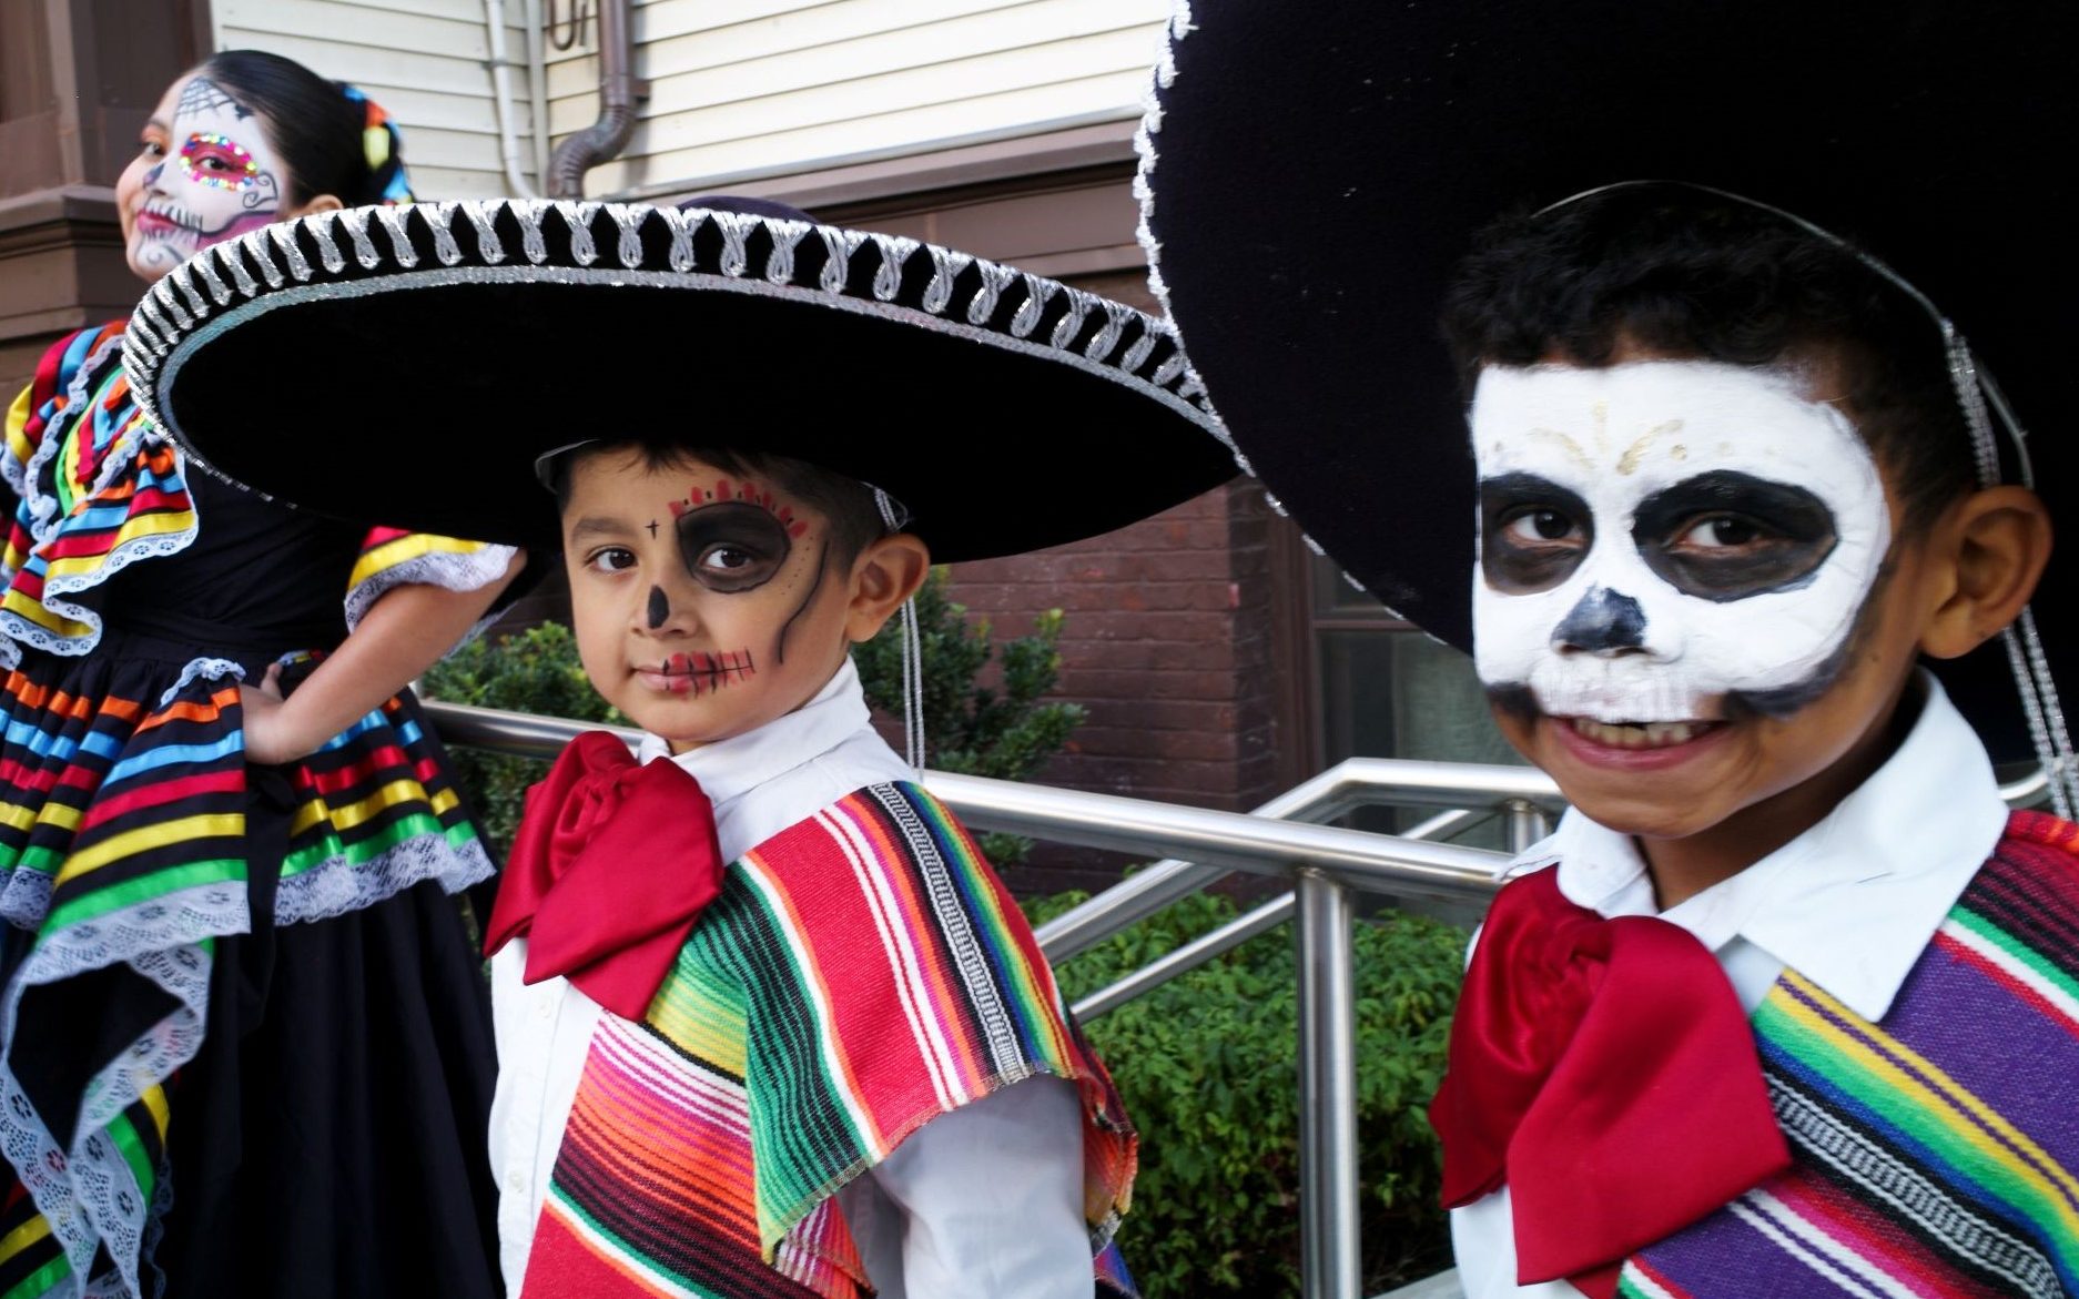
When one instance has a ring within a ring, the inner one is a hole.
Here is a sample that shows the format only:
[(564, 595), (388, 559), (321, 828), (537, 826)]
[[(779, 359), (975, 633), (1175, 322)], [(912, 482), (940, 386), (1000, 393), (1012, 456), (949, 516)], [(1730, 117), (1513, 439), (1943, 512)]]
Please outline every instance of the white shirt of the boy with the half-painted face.
[[(665, 759), (657, 736), (644, 763)], [(715, 804), (723, 860), (852, 790), (915, 779), (873, 732), (846, 659), (807, 705), (755, 732), (669, 757)], [(565, 979), (528, 987), (526, 939), (491, 958), (499, 1087), (491, 1168), (499, 1178), (499, 1266), (520, 1295), (563, 1122), (603, 1010)], [(838, 1191), (881, 1299), (1089, 1299), (1083, 1126), (1075, 1085), (1029, 1079), (927, 1122)]]

